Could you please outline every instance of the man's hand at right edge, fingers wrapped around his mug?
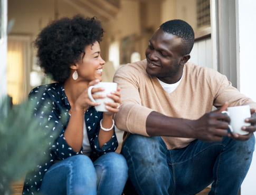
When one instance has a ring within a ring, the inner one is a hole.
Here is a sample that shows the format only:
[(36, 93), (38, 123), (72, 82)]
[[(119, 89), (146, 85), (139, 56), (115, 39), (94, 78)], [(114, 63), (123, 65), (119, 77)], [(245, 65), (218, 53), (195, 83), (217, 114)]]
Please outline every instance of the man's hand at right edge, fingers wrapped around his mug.
[(249, 140), (249, 138), (252, 136), (252, 134), (256, 131), (256, 113), (255, 109), (251, 109), (251, 118), (245, 119), (245, 122), (251, 123), (250, 126), (242, 126), (243, 131), (248, 131), (249, 134), (246, 135), (240, 135), (238, 133), (231, 134), (229, 133), (227, 136), (230, 138), (233, 138), (235, 140), (245, 141)]

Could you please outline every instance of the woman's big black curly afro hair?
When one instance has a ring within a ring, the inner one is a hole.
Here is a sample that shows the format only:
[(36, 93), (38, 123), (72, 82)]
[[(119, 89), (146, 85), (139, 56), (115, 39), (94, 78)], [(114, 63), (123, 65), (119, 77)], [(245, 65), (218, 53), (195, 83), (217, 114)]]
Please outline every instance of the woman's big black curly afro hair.
[(87, 45), (103, 36), (101, 23), (95, 18), (75, 15), (53, 21), (37, 35), (39, 65), (56, 82), (64, 82), (70, 75), (70, 66), (80, 60)]

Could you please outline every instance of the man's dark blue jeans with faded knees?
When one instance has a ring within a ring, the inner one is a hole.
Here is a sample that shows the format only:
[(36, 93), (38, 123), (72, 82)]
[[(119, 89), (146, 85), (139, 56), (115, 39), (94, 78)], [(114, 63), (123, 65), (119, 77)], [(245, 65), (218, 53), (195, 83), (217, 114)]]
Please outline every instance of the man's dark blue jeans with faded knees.
[(130, 134), (121, 149), (132, 183), (125, 190), (134, 187), (139, 195), (196, 194), (213, 182), (209, 194), (236, 195), (249, 170), (254, 145), (252, 135), (248, 141), (195, 140), (185, 148), (167, 150), (160, 137)]

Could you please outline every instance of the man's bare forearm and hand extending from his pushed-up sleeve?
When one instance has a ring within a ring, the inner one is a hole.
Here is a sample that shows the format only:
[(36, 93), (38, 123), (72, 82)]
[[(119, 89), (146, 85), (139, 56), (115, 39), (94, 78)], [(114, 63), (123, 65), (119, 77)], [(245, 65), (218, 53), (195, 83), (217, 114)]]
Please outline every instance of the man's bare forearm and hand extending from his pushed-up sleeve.
[(150, 136), (195, 138), (202, 141), (221, 141), (227, 135), (229, 117), (221, 112), (227, 103), (216, 111), (204, 114), (200, 119), (172, 118), (158, 112), (151, 112), (146, 120), (146, 131)]

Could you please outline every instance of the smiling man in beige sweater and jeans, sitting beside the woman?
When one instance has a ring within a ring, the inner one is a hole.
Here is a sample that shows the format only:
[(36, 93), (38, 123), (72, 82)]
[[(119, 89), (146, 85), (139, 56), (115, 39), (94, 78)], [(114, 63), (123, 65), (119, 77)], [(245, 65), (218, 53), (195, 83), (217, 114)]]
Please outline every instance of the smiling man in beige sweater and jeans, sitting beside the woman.
[[(121, 149), (127, 189), (140, 195), (196, 194), (212, 182), (210, 194), (237, 194), (250, 167), (256, 103), (226, 76), (187, 62), (193, 44), (190, 25), (168, 21), (149, 40), (146, 60), (115, 74), (122, 100), (115, 121), (129, 132)], [(238, 105), (251, 107), (247, 135), (229, 133), (230, 118), (221, 113)]]

